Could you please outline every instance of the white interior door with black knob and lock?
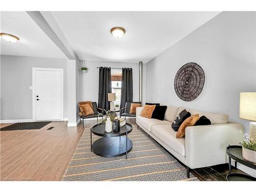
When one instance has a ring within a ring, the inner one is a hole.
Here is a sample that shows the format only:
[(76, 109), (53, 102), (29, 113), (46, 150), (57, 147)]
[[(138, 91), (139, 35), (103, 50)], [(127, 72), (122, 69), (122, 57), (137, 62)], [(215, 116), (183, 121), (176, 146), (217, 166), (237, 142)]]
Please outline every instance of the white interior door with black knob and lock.
[(35, 71), (35, 120), (62, 119), (61, 71)]

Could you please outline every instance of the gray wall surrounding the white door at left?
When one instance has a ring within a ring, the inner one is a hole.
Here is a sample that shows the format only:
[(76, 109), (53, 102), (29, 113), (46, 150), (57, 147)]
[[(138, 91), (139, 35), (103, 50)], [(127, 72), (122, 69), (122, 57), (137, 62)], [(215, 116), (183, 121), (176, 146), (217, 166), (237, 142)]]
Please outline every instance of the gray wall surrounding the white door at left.
[(32, 68), (64, 71), (64, 117), (68, 117), (67, 59), (1, 55), (1, 120), (32, 119)]

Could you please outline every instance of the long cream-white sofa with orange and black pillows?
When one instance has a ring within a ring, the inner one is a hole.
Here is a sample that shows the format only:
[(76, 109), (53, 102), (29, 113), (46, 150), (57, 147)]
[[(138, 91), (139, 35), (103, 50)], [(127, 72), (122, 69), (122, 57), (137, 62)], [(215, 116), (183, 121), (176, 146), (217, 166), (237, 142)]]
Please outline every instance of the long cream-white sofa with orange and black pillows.
[(140, 116), (142, 109), (143, 106), (136, 109), (138, 127), (185, 164), (188, 177), (189, 168), (227, 163), (226, 147), (229, 144), (239, 144), (242, 140), (239, 130), (244, 130), (244, 126), (240, 123), (228, 123), (228, 115), (225, 114), (186, 109), (191, 115), (206, 116), (211, 125), (189, 126), (185, 130), (185, 137), (177, 139), (172, 123), (185, 108), (168, 106), (163, 121)]

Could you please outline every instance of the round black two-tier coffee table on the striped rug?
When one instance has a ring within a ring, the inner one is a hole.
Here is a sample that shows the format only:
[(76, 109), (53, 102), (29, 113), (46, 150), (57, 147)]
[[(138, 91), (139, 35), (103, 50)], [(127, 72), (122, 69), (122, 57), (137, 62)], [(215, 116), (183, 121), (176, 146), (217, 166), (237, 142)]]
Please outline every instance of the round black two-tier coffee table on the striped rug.
[[(127, 137), (133, 130), (132, 125), (126, 123), (120, 127), (120, 132), (105, 132), (105, 124), (96, 124), (91, 128), (91, 152), (101, 157), (118, 157), (132, 150), (133, 142)], [(102, 138), (92, 143), (92, 133)], [(125, 137), (122, 137), (124, 136)]]

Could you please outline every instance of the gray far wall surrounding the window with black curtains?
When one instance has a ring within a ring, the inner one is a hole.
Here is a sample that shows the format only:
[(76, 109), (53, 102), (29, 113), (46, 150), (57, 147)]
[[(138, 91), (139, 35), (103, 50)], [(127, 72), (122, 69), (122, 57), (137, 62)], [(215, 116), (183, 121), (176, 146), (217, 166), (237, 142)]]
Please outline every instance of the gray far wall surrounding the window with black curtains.
[(133, 100), (139, 101), (139, 62), (102, 62), (102, 61), (86, 61), (86, 67), (89, 68), (87, 73), (81, 75), (81, 100), (91, 100), (98, 102), (99, 91), (99, 69), (97, 67), (111, 68), (133, 68)]

